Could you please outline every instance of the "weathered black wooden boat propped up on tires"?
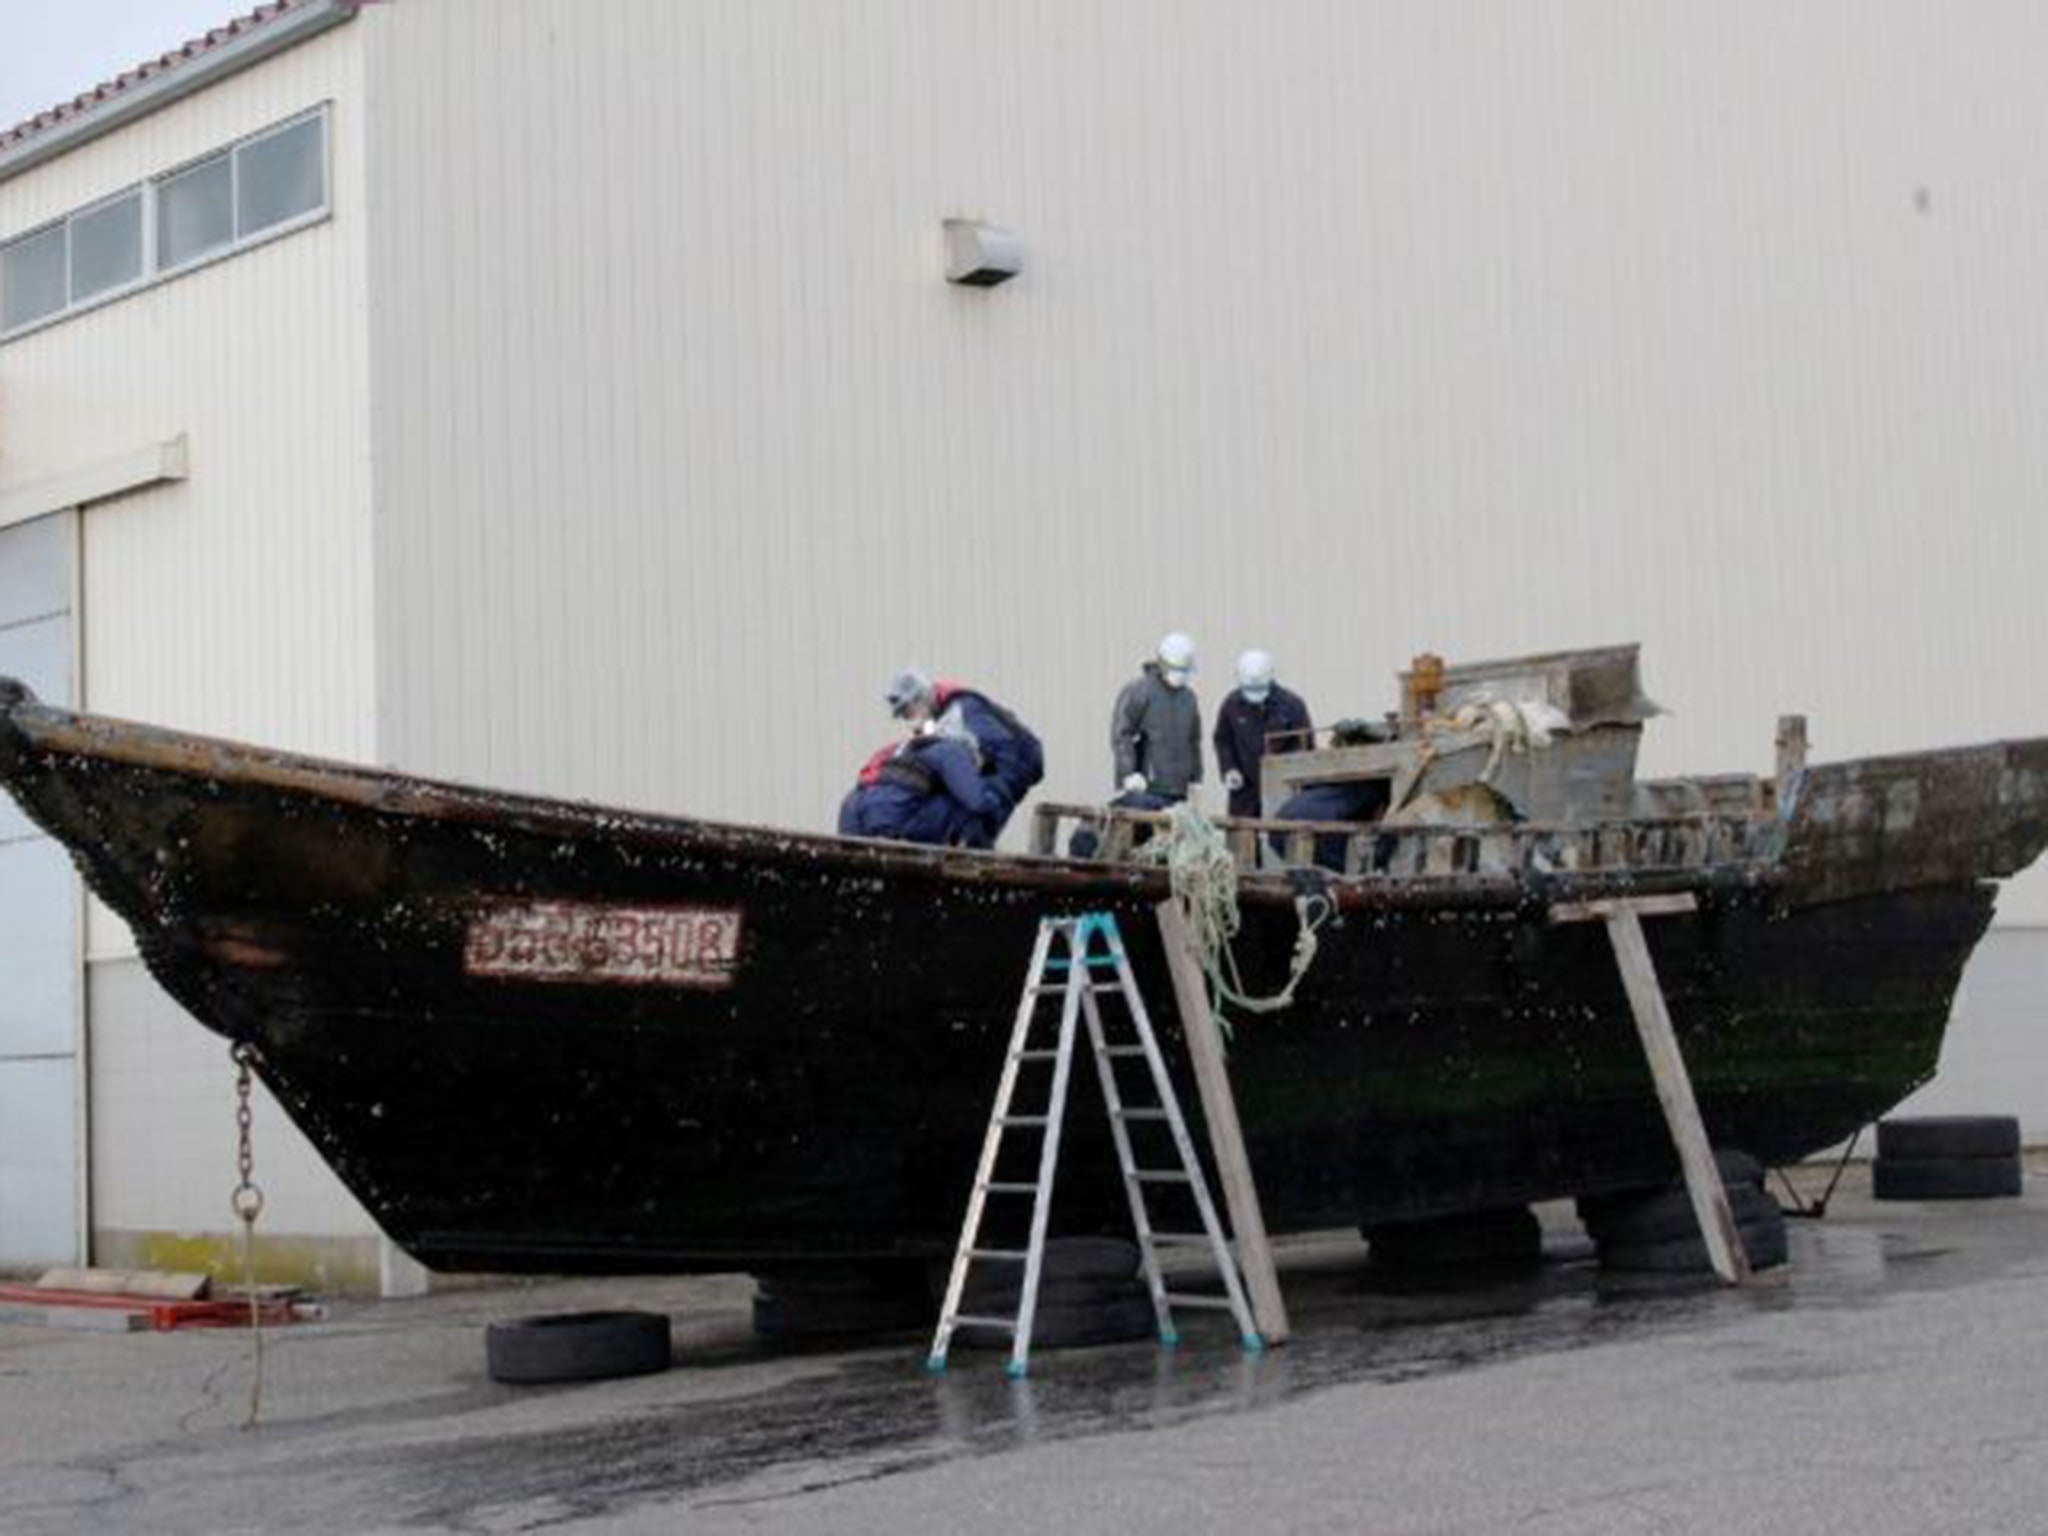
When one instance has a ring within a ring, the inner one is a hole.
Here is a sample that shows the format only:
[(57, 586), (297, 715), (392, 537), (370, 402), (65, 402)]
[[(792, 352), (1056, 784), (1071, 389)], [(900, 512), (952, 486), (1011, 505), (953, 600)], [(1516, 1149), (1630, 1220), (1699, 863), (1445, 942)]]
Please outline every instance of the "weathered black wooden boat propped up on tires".
[[(1567, 733), (1640, 729), (1589, 682), (1614, 657), (1522, 659), (1495, 686), (1563, 688)], [(1632, 678), (1626, 647), (1636, 700)], [(1376, 743), (1427, 756), (1411, 788), (1464, 772), (1442, 702)], [(1317, 752), (1335, 756), (1305, 754), (1296, 782), (1366, 772), (1356, 748)], [(1047, 807), (1032, 854), (715, 825), (74, 715), (6, 680), (0, 780), (440, 1270), (948, 1251), (1047, 913), (1118, 913), (1186, 1067), (1151, 922), (1165, 872), (1051, 852), (1063, 821), (1102, 821), (1114, 854), (1143, 817)], [(1231, 1049), (1272, 1229), (1671, 1176), (1606, 938), (1546, 922), (1559, 901), (1692, 893), (1696, 915), (1647, 928), (1712, 1139), (1767, 1161), (1841, 1141), (1933, 1073), (1991, 881), (2048, 842), (2048, 739), (1638, 784), (1622, 815), (1612, 795), (1335, 831), (1335, 915), (1296, 1004), (1241, 1020)], [(1284, 829), (1294, 862), (1315, 831)], [(1260, 834), (1229, 825), (1253, 983), (1284, 975), (1309, 879), (1260, 868)], [(1075, 1106), (1057, 1200), (1081, 1229), (1122, 1217), (1106, 1139), (1081, 1135), (1096, 1120)]]

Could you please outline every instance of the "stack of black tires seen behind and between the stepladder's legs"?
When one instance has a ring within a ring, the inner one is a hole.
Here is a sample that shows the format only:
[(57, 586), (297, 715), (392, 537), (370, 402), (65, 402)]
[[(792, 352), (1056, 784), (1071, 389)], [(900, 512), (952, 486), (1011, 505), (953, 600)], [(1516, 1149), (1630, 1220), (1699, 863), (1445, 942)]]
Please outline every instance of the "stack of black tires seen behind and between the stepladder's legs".
[[(1024, 1296), (1022, 1264), (977, 1264), (967, 1272), (963, 1317), (1016, 1317)], [(1038, 1307), (1030, 1348), (1149, 1339), (1159, 1329), (1151, 1290), (1139, 1276), (1139, 1245), (1126, 1237), (1053, 1237), (1038, 1270)], [(1008, 1350), (1008, 1329), (963, 1325), (954, 1343)]]

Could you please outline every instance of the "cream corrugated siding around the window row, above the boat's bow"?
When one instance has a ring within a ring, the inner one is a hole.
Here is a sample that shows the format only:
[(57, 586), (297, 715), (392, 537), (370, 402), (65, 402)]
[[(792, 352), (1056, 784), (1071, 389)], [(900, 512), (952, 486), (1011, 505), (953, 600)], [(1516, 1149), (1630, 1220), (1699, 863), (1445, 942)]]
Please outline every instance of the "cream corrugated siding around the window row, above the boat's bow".
[(6, 238), (344, 98), (330, 223), (0, 344), (0, 489), (188, 440), (86, 514), (96, 711), (375, 754), (360, 63), (344, 27), (0, 182)]

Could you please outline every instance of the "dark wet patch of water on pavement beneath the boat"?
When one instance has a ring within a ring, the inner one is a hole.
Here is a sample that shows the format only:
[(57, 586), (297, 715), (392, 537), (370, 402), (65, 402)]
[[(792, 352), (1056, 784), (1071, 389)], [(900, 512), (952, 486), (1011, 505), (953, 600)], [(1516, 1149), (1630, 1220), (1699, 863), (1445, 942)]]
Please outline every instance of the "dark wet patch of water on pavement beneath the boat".
[[(899, 1348), (868, 1348), (827, 1376), (756, 1395), (422, 1448), (387, 1509), (406, 1522), (457, 1524), (489, 1507), (590, 1518), (721, 1485), (741, 1499), (788, 1497), (954, 1456), (1253, 1413), (1337, 1384), (1399, 1384), (1688, 1333), (1755, 1309), (1864, 1307), (1901, 1290), (1980, 1282), (2003, 1257), (2040, 1255), (2040, 1223), (2019, 1225), (2025, 1231), (2011, 1241), (1989, 1245), (1974, 1229), (1964, 1251), (1939, 1235), (1796, 1221), (1792, 1266), (1749, 1290), (1604, 1276), (1583, 1245), (1565, 1245), (1565, 1262), (1520, 1276), (1421, 1286), (1374, 1272), (1358, 1249), (1288, 1262), (1294, 1341), (1264, 1354), (1243, 1352), (1227, 1321), (1198, 1319), (1178, 1350), (1143, 1341), (1040, 1352), (1028, 1378), (1010, 1380), (1004, 1354), (991, 1350), (956, 1350), (952, 1368), (930, 1376), (928, 1339), (901, 1335)], [(383, 1470), (391, 1473), (389, 1460)], [(764, 1475), (764, 1485), (739, 1493)]]

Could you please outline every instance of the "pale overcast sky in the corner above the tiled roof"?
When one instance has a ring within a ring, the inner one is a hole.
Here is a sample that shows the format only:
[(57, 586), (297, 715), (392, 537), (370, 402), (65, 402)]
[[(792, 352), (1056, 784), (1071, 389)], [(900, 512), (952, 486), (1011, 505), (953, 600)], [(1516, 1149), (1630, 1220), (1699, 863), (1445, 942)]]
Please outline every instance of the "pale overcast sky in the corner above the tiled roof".
[(0, 0), (0, 129), (254, 8), (256, 0)]

